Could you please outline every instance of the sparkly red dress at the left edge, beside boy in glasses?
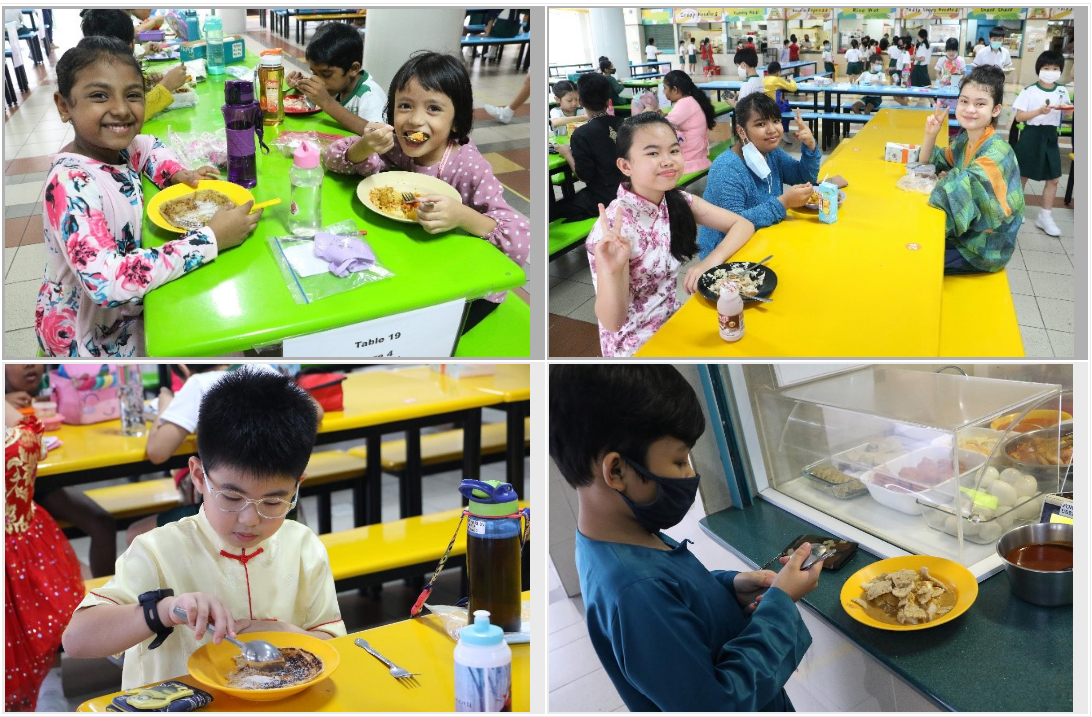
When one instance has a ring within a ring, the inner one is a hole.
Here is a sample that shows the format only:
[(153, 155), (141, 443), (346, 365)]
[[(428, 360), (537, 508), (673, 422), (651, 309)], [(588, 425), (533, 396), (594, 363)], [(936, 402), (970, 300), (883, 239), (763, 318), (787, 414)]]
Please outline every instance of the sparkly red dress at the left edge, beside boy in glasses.
[(61, 633), (83, 599), (80, 562), (52, 516), (34, 504), (41, 422), (4, 432), (4, 709), (33, 712)]

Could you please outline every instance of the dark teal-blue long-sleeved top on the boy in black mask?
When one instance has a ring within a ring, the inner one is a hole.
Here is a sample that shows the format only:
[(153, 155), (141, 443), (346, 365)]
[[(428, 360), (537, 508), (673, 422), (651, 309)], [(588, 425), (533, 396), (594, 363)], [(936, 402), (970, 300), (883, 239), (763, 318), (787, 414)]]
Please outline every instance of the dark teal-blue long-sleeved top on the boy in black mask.
[(577, 531), (587, 633), (630, 712), (792, 712), (784, 685), (811, 645), (792, 598), (769, 588), (751, 616), (736, 571)]

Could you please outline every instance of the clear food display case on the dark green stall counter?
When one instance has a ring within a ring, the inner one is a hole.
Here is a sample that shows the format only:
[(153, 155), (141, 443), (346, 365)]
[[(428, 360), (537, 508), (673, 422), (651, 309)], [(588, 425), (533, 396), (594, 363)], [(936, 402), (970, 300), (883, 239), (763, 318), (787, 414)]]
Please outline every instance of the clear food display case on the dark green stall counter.
[(883, 557), (938, 555), (981, 581), (1002, 534), (1072, 490), (1056, 384), (866, 366), (750, 391), (762, 497)]

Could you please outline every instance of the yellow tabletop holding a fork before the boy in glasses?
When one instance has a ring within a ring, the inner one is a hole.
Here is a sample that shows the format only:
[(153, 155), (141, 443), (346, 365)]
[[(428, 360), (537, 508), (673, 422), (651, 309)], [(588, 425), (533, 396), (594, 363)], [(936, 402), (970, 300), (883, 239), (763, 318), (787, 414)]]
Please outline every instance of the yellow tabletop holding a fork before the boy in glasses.
[[(524, 593), (526, 601), (529, 594)], [(364, 637), (384, 657), (413, 672), (420, 672), (418, 688), (405, 688), (375, 657), (354, 644)], [(179, 682), (201, 688), (213, 702), (201, 712), (454, 712), (454, 649), (436, 616), (403, 620), (365, 630), (330, 643), (341, 658), (327, 680), (277, 702), (247, 702), (211, 690), (192, 677)], [(531, 650), (524, 643), (512, 648), (512, 710), (531, 710)], [(106, 712), (120, 693), (95, 697), (79, 712)]]

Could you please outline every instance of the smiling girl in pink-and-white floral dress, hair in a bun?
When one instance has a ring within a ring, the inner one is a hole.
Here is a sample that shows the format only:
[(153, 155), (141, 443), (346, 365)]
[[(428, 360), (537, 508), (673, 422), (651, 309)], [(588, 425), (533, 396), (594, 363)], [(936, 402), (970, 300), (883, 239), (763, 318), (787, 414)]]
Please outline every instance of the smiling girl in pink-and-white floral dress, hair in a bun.
[(34, 327), (47, 356), (143, 352), (143, 302), (152, 289), (214, 260), (250, 234), (251, 203), (158, 248), (144, 247), (141, 175), (159, 188), (215, 178), (188, 170), (144, 124), (144, 82), (132, 51), (112, 37), (85, 37), (57, 63), (55, 100), (75, 139), (46, 178), (46, 276)]

